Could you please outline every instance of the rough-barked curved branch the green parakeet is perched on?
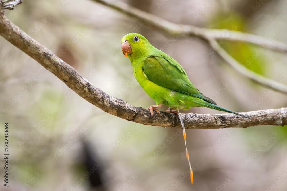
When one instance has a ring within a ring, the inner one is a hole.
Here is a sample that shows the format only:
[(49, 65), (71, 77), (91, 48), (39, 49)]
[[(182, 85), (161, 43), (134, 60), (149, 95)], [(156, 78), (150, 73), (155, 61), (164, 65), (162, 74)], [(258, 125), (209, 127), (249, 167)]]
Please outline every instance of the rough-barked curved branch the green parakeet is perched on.
[[(181, 128), (179, 118), (174, 113), (161, 112), (150, 117), (150, 112), (141, 107), (129, 105), (125, 101), (111, 97), (86, 79), (73, 67), (65, 63), (53, 52), (28, 36), (9, 21), (0, 2), (0, 35), (11, 44), (36, 60), (44, 68), (62, 80), (69, 88), (103, 111), (136, 123), (153, 126)], [(242, 113), (246, 119), (235, 114), (181, 114), (187, 129), (218, 129), (227, 127), (249, 127), (256, 125), (286, 125), (287, 108), (250, 111)]]

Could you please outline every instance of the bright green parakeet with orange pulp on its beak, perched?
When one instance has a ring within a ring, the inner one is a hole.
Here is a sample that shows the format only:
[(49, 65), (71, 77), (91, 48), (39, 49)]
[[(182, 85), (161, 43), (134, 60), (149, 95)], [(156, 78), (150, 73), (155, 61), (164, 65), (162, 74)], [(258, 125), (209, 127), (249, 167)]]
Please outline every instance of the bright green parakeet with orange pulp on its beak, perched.
[(224, 109), (206, 97), (189, 81), (185, 70), (177, 61), (152, 46), (148, 40), (137, 33), (129, 33), (121, 39), (122, 52), (133, 66), (133, 74), (145, 92), (156, 101), (147, 109), (151, 116), (162, 104), (169, 106), (167, 112), (177, 113), (179, 109), (208, 107), (219, 111), (240, 113)]

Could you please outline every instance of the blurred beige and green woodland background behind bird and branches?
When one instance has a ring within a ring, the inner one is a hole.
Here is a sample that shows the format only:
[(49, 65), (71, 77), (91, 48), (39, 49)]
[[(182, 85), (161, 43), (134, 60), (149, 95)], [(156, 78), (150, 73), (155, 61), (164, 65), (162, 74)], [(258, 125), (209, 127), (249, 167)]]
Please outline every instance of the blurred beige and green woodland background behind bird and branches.
[[(124, 2), (174, 23), (245, 31), (287, 43), (284, 0)], [(216, 54), (208, 54), (211, 49), (202, 40), (164, 34), (94, 1), (24, 1), (5, 12), (90, 83), (131, 105), (154, 105), (120, 48), (125, 34), (137, 32), (177, 60), (190, 81), (219, 106), (242, 112), (287, 107), (286, 95), (239, 75)], [(286, 55), (228, 40), (222, 47), (246, 68), (287, 84)], [(188, 129), (191, 185), (181, 129), (140, 125), (103, 112), (2, 37), (0, 92), (1, 149), (4, 123), (9, 123), (10, 153), (9, 187), (3, 186), (0, 159), (0, 190), (287, 187), (286, 126)], [(220, 113), (199, 107), (182, 111), (190, 112)]]

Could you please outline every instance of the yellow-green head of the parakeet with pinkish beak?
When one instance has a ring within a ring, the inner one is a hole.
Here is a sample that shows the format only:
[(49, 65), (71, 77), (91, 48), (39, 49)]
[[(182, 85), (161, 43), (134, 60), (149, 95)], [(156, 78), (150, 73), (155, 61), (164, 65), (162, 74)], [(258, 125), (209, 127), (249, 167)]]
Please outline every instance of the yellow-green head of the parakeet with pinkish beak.
[(146, 38), (137, 33), (129, 33), (121, 39), (122, 52), (130, 60), (140, 59), (147, 56), (152, 51), (152, 45)]

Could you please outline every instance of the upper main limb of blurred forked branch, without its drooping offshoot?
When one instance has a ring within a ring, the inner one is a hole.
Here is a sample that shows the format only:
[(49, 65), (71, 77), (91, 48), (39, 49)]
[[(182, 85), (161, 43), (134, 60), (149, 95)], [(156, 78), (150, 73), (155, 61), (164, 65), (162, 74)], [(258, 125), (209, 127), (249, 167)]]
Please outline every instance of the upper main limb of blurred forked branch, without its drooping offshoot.
[[(141, 11), (121, 1), (116, 1), (113, 4), (103, 0), (93, 0), (93, 1), (101, 3), (102, 5), (106, 5), (108, 7), (112, 7), (113, 9), (116, 9), (122, 13), (125, 13), (126, 15), (139, 19), (145, 22), (146, 24), (155, 27), (156, 29), (160, 29), (171, 35), (180, 34), (182, 36), (184, 35), (194, 36), (202, 38), (206, 41), (208, 41), (208, 39), (240, 41), (254, 44), (257, 46), (265, 46), (265, 43), (268, 43), (269, 40), (268, 38), (263, 38), (261, 36), (235, 30), (207, 29), (207, 28), (196, 27), (193, 25), (172, 23), (165, 19), (152, 15), (150, 13)], [(287, 52), (287, 45), (279, 41), (272, 42), (272, 44), (270, 44), (266, 48), (270, 50), (275, 50), (277, 52), (283, 52), (283, 53)]]

